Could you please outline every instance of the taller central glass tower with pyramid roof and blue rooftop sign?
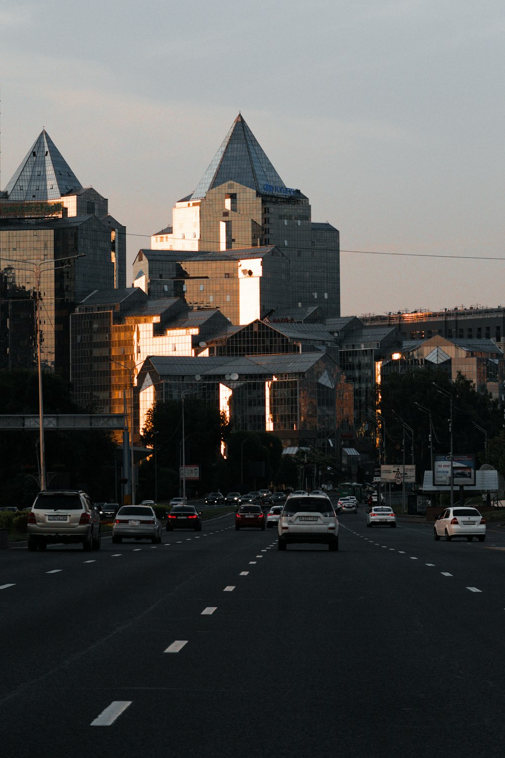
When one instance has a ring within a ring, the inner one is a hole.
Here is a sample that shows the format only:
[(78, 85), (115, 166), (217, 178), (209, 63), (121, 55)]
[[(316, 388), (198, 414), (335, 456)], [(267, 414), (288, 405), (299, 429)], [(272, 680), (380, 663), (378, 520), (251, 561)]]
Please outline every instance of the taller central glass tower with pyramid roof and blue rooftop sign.
[[(340, 248), (332, 224), (313, 223), (300, 189), (286, 186), (238, 114), (196, 189), (176, 202), (170, 227), (151, 248), (224, 252), (275, 246), (288, 259), (278, 307), (319, 305), (340, 315)], [(235, 321), (234, 323), (244, 323)]]

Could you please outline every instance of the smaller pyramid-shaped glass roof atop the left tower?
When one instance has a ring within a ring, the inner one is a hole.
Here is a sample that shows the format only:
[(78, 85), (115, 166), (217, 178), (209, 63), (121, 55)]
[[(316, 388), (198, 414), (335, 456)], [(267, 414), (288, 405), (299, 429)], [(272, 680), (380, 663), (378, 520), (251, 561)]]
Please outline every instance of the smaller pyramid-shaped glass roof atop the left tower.
[(82, 185), (44, 130), (5, 187), (9, 200), (55, 200)]

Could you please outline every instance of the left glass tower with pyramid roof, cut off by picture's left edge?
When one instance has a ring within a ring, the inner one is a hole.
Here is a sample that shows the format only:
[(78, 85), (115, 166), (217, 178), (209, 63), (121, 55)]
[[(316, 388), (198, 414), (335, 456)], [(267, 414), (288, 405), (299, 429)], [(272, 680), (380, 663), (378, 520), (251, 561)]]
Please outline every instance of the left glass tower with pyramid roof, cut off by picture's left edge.
[(126, 228), (43, 130), (0, 193), (0, 365), (36, 365), (39, 296), (42, 364), (68, 378), (70, 313), (93, 290), (125, 281)]

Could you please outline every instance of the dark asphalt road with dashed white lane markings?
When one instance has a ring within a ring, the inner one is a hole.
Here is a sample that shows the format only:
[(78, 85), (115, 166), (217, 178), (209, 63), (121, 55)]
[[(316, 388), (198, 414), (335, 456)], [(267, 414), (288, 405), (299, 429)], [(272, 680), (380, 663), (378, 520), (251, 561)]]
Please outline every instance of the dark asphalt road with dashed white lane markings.
[(363, 510), (338, 553), (233, 515), (2, 551), (2, 756), (502, 756), (505, 534)]

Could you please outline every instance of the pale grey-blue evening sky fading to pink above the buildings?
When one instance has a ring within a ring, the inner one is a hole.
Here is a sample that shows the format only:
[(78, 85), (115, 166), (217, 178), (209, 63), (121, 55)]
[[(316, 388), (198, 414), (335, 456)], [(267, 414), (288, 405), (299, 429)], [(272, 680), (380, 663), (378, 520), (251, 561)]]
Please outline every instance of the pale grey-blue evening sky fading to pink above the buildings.
[(0, 0), (0, 187), (42, 131), (126, 225), (171, 224), (238, 111), (341, 314), (505, 305), (503, 0)]

